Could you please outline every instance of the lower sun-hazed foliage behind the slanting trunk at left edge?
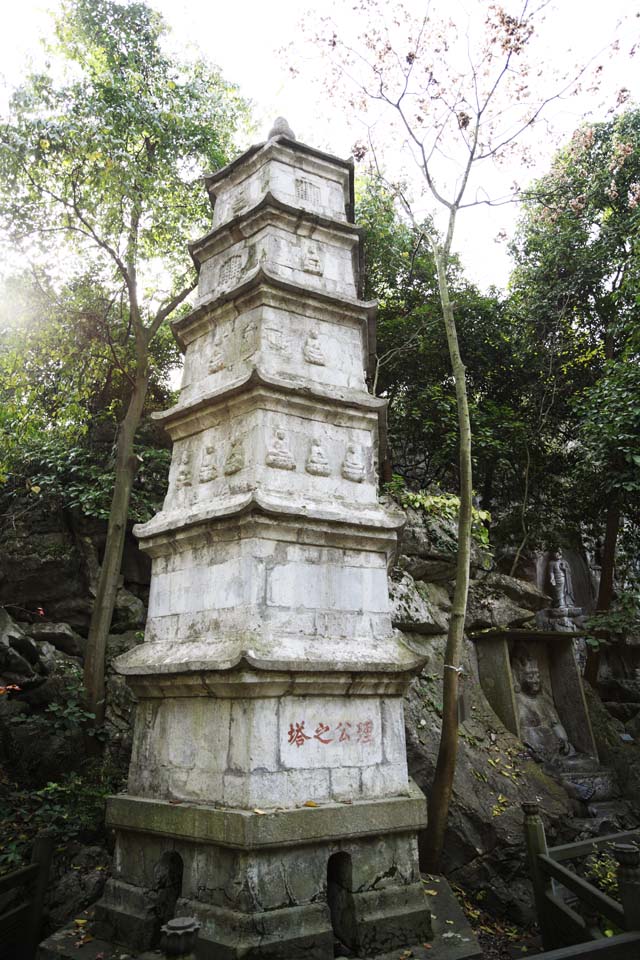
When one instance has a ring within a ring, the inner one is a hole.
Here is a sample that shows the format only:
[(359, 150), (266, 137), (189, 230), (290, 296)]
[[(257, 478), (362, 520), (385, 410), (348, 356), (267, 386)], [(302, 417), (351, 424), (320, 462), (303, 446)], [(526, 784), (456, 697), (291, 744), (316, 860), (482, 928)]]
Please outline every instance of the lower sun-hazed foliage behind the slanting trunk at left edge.
[[(61, 286), (44, 275), (10, 277), (0, 297), (0, 517), (79, 510), (108, 520), (113, 438), (135, 363), (124, 304), (94, 272)], [(179, 351), (168, 328), (149, 347), (145, 416), (171, 402)], [(130, 517), (148, 520), (166, 488), (170, 454), (139, 430)], [(0, 539), (1, 539), (0, 531)]]

